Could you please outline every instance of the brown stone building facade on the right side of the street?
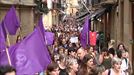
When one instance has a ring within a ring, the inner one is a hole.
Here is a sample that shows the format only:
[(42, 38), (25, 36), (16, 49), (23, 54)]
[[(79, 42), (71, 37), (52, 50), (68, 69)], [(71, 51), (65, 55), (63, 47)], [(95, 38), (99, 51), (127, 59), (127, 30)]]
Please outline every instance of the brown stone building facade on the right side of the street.
[(134, 67), (134, 0), (100, 0), (98, 6), (111, 7), (94, 20), (94, 29), (110, 35), (116, 46), (124, 43)]

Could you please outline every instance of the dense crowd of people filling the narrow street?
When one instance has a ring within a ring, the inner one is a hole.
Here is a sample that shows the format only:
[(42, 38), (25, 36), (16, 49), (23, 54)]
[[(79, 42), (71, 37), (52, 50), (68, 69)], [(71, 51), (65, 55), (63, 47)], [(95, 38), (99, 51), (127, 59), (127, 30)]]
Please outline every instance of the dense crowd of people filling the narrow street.
[[(130, 75), (132, 73), (129, 52), (123, 43), (116, 47), (115, 41), (110, 40), (103, 48), (92, 45), (83, 48), (80, 44), (81, 29), (82, 27), (73, 20), (53, 25), (51, 31), (55, 33), (55, 41), (53, 45), (48, 46), (51, 63), (43, 75)], [(1, 69), (0, 75), (3, 75)], [(14, 69), (13, 71), (16, 72)]]

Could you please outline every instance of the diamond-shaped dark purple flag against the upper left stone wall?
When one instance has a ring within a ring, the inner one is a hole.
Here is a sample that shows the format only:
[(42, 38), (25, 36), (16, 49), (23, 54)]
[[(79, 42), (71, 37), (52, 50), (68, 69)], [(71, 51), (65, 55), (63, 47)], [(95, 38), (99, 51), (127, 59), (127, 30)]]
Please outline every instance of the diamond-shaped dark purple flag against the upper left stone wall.
[(7, 12), (3, 23), (9, 32), (10, 35), (15, 35), (18, 27), (20, 26), (20, 22), (16, 15), (16, 10), (14, 6), (10, 8), (10, 10)]

